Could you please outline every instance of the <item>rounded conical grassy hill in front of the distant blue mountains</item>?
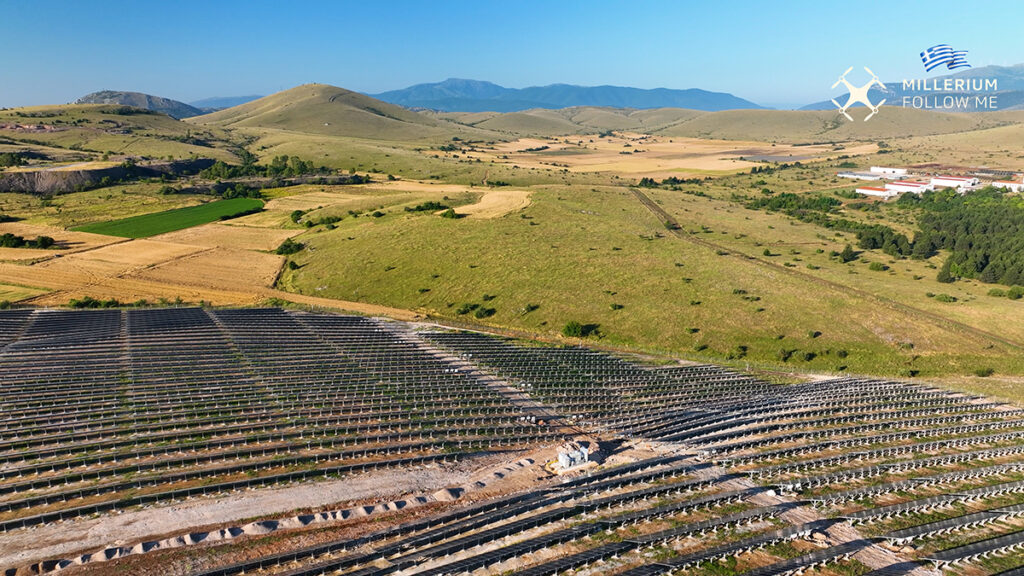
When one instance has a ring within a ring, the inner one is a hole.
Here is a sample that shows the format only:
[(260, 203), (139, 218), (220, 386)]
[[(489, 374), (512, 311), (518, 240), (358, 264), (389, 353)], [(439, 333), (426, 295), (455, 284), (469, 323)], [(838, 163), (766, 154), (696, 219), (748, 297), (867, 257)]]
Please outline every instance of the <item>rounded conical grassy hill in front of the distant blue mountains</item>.
[(493, 135), (327, 84), (304, 84), (189, 121), (396, 141)]

